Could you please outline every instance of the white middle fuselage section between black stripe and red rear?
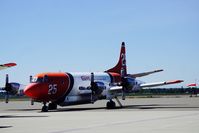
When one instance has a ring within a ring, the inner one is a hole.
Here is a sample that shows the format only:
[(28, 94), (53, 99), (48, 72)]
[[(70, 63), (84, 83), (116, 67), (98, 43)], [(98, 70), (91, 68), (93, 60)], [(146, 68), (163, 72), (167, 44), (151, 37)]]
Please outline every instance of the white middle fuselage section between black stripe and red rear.
[[(70, 93), (66, 96), (61, 106), (64, 105), (74, 105), (74, 104), (85, 104), (91, 103), (91, 89), (89, 89), (91, 84), (91, 73), (70, 73), (73, 76), (74, 84)], [(101, 97), (106, 98), (108, 95), (108, 90), (111, 85), (111, 77), (108, 73), (97, 72), (94, 73), (95, 82), (101, 82), (104, 84), (105, 89), (101, 93)], [(95, 99), (96, 101), (97, 99)]]

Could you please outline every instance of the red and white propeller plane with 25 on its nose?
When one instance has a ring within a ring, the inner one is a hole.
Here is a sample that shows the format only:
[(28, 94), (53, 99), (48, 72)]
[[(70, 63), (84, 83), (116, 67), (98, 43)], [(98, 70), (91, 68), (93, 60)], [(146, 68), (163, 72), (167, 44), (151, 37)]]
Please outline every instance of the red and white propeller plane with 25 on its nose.
[[(122, 42), (119, 61), (115, 67), (104, 72), (55, 72), (41, 73), (30, 77), (30, 84), (24, 89), (25, 95), (36, 102), (42, 102), (42, 111), (57, 109), (59, 106), (94, 103), (97, 100), (108, 100), (106, 107), (116, 107), (116, 99), (122, 107), (118, 97), (125, 100), (126, 94), (137, 92), (146, 87), (155, 87), (181, 83), (174, 80), (156, 83), (144, 83), (137, 77), (163, 71), (155, 70), (138, 74), (128, 74), (126, 66), (125, 43)], [(16, 90), (16, 88), (15, 88)], [(48, 106), (47, 106), (47, 103)]]

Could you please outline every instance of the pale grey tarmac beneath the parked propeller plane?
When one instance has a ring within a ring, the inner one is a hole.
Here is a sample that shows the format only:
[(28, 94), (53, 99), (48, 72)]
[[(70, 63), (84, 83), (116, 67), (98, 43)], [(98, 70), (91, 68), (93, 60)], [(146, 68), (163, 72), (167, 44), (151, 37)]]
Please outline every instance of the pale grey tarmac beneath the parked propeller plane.
[(132, 98), (107, 110), (106, 100), (41, 112), (30, 101), (0, 102), (1, 133), (198, 133), (199, 97)]

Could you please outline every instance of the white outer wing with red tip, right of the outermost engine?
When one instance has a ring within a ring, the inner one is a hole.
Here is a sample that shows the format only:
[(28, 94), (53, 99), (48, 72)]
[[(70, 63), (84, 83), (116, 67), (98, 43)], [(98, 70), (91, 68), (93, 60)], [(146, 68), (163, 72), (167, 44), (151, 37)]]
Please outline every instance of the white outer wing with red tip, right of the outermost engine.
[(156, 87), (156, 86), (177, 84), (177, 83), (181, 83), (181, 82), (184, 82), (184, 81), (183, 80), (173, 80), (173, 81), (165, 81), (165, 82), (144, 83), (144, 84), (141, 84), (140, 87), (142, 89), (144, 89), (146, 87)]

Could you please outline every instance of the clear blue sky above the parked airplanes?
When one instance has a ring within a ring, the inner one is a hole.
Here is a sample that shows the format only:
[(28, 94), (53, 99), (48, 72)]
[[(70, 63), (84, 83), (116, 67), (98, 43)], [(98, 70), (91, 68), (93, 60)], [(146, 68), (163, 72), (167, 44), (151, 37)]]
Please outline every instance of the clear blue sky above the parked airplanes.
[(27, 84), (40, 72), (104, 71), (126, 42), (129, 73), (146, 82), (199, 80), (198, 0), (1, 0), (0, 72)]

